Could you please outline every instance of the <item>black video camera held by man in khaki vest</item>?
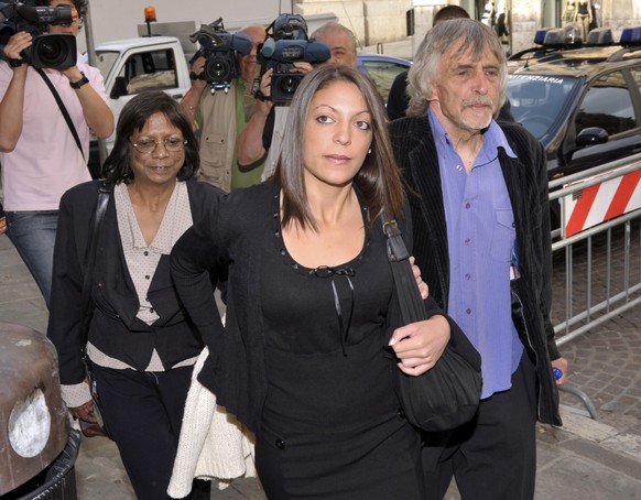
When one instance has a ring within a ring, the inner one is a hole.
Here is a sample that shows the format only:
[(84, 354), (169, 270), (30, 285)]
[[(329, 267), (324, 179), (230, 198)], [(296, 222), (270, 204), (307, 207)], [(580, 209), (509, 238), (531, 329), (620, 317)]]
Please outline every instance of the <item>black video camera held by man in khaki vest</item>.
[(198, 42), (200, 48), (189, 63), (198, 57), (205, 57), (205, 69), (200, 75), (191, 74), (192, 78), (202, 78), (211, 86), (211, 94), (216, 90), (229, 90), (233, 78), (239, 76), (238, 58), (236, 53), (247, 55), (253, 47), (253, 40), (247, 33), (231, 34), (225, 31), (222, 18), (211, 24), (203, 24), (189, 36), (192, 42)]

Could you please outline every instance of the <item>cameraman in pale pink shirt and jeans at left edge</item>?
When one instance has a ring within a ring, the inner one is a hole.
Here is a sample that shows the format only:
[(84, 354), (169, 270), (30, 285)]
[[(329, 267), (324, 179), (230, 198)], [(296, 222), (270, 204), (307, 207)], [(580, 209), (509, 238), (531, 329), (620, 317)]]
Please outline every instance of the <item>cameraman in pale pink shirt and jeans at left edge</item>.
[[(48, 33), (77, 35), (85, 0), (37, 0), (37, 6), (74, 9), (72, 22), (48, 25)], [(34, 28), (37, 25), (34, 23)], [(90, 181), (89, 129), (100, 138), (113, 131), (105, 83), (97, 68), (77, 63), (64, 69), (43, 69), (76, 129), (80, 152), (52, 90), (24, 59), (34, 36), (13, 34), (0, 62), (0, 163), (7, 235), (50, 305), (53, 248), (61, 196)]]

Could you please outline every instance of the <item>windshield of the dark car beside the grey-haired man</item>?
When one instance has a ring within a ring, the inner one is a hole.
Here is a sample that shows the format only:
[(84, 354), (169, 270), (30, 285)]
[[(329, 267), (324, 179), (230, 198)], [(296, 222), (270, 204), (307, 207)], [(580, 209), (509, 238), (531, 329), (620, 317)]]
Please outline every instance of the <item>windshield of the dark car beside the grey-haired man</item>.
[(510, 75), (508, 98), (514, 121), (541, 139), (559, 118), (577, 85), (573, 77)]

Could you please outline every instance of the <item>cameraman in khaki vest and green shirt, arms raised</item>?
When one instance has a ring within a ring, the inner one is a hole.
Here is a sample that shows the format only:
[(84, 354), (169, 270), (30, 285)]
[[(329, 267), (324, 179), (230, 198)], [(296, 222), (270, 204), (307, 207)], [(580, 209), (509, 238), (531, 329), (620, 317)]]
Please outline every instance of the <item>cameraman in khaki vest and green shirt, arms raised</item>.
[[(257, 76), (258, 47), (265, 40), (265, 29), (260, 24), (249, 24), (240, 30), (253, 41), (251, 52), (237, 54), (239, 77), (231, 80), (227, 91), (210, 91), (210, 85), (203, 78), (192, 79), (192, 88), (181, 102), (183, 109), (194, 119), (195, 130), (200, 130), (199, 180), (226, 192), (260, 183), (261, 159), (246, 166), (236, 160), (236, 138), (247, 126), (256, 109), (256, 98), (251, 95), (251, 84)], [(192, 72), (203, 75), (207, 59), (196, 58)]]

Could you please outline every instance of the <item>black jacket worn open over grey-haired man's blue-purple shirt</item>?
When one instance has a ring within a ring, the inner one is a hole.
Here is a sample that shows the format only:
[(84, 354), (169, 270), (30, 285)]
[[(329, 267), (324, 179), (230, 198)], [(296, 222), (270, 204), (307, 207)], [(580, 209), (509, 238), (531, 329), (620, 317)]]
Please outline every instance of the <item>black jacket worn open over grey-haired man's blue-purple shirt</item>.
[[(539, 420), (561, 425), (558, 392), (551, 359), (559, 358), (550, 320), (552, 247), (547, 171), (541, 143), (523, 127), (500, 122), (518, 159), (499, 151), (517, 230), (521, 276), (512, 280), (512, 318), (539, 376)], [(394, 155), (414, 191), (410, 207), (414, 232), (413, 254), (430, 294), (447, 311), (449, 253), (438, 155), (430, 120), (412, 117), (390, 123)]]

